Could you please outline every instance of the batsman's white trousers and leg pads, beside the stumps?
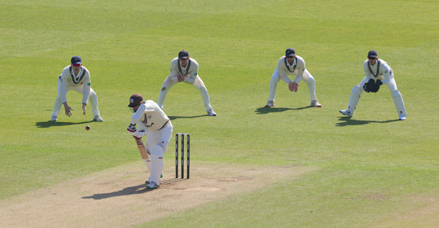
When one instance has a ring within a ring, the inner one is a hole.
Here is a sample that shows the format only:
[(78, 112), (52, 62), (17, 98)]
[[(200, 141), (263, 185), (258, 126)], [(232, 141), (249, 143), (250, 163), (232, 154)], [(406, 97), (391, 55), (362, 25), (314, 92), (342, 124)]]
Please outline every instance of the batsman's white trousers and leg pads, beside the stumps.
[[(171, 141), (173, 128), (173, 126), (167, 126), (162, 128), (162, 130), (150, 131), (146, 139), (146, 151), (151, 151), (151, 168), (148, 167), (150, 168), (151, 176), (148, 180), (154, 181), (157, 185), (160, 185), (160, 174), (162, 174), (164, 168), (164, 152), (166, 152), (169, 141)], [(160, 146), (160, 150), (157, 150), (157, 146)], [(160, 153), (157, 153), (157, 151)]]

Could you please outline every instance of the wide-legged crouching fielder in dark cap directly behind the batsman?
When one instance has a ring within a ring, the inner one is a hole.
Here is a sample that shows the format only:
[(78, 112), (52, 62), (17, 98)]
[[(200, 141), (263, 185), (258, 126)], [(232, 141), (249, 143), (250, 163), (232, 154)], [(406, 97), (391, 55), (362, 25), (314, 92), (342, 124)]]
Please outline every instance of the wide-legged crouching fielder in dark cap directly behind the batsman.
[(190, 59), (189, 53), (185, 50), (181, 50), (178, 53), (178, 58), (171, 61), (171, 73), (169, 73), (163, 82), (157, 102), (161, 109), (163, 109), (164, 98), (166, 98), (169, 89), (178, 82), (192, 84), (192, 86), (197, 88), (201, 93), (201, 98), (203, 98), (204, 107), (206, 108), (208, 116), (217, 115), (213, 111), (212, 106), (210, 106), (209, 93), (206, 86), (204, 86), (203, 81), (198, 76), (198, 63), (195, 59)]

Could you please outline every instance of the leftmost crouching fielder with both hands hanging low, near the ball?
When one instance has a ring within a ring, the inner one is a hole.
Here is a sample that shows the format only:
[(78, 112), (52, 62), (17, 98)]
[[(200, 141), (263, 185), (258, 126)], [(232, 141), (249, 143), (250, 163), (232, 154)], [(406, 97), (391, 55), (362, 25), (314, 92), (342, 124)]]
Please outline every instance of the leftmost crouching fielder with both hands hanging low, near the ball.
[(81, 57), (73, 56), (71, 60), (71, 65), (66, 66), (63, 72), (58, 77), (58, 97), (55, 100), (55, 107), (50, 121), (58, 121), (58, 115), (61, 110), (61, 104), (64, 105), (66, 110), (66, 116), (72, 116), (73, 110), (67, 104), (66, 94), (70, 90), (82, 93), (82, 111), (86, 114), (86, 105), (88, 100), (90, 100), (91, 110), (93, 111), (93, 121), (102, 122), (104, 121), (99, 114), (98, 109), (98, 97), (95, 91), (91, 89), (90, 73), (87, 68), (82, 66)]

